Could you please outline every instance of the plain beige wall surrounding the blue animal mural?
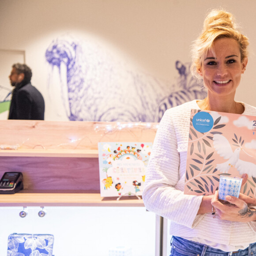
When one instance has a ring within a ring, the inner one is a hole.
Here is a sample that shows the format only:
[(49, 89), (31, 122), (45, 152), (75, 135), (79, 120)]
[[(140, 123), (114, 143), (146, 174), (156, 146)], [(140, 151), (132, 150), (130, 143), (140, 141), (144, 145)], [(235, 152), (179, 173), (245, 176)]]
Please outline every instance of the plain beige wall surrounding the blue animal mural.
[[(254, 0), (1, 0), (0, 49), (26, 51), (26, 63), (34, 72), (32, 82), (46, 104), (45, 50), (67, 32), (96, 38), (153, 77), (172, 83), (177, 77), (175, 61), (190, 61), (189, 47), (206, 12), (218, 7), (233, 12), (250, 39), (251, 55), (237, 100), (256, 105)], [(51, 119), (49, 110), (46, 105), (46, 119)]]

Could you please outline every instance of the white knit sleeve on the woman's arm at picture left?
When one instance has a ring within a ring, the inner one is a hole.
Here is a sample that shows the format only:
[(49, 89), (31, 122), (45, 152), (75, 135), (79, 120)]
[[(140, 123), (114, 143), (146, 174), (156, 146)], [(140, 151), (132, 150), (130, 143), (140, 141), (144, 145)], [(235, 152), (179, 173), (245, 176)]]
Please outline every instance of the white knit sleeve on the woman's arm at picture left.
[(183, 193), (190, 109), (177, 107), (164, 114), (147, 167), (143, 201), (149, 211), (192, 228), (203, 217), (197, 215), (203, 196)]

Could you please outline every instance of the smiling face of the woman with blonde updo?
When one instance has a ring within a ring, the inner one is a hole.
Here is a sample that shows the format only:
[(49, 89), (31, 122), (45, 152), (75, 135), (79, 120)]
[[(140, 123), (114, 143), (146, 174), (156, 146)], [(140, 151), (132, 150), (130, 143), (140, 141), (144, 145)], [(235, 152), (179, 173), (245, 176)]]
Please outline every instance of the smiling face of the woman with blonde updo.
[(203, 76), (209, 96), (234, 97), (248, 59), (241, 62), (240, 49), (235, 39), (220, 38), (213, 46), (215, 55), (211, 50), (207, 53), (198, 73)]

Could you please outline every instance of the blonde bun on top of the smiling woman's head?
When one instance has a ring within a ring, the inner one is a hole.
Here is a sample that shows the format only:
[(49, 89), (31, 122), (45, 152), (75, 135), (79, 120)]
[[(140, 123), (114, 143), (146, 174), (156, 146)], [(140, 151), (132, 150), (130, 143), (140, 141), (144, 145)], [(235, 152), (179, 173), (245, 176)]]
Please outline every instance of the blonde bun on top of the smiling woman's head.
[(211, 11), (204, 20), (203, 30), (206, 31), (214, 28), (221, 29), (221, 27), (236, 29), (233, 15), (230, 12), (222, 10)]

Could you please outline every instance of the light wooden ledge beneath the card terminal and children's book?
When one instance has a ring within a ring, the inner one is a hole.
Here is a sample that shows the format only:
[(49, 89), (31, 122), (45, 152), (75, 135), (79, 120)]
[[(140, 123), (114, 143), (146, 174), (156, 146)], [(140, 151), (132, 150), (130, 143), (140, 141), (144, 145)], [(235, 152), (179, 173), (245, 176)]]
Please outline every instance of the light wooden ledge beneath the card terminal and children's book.
[(0, 195), (0, 207), (103, 206), (144, 207), (136, 196), (102, 197), (98, 193), (16, 193)]

